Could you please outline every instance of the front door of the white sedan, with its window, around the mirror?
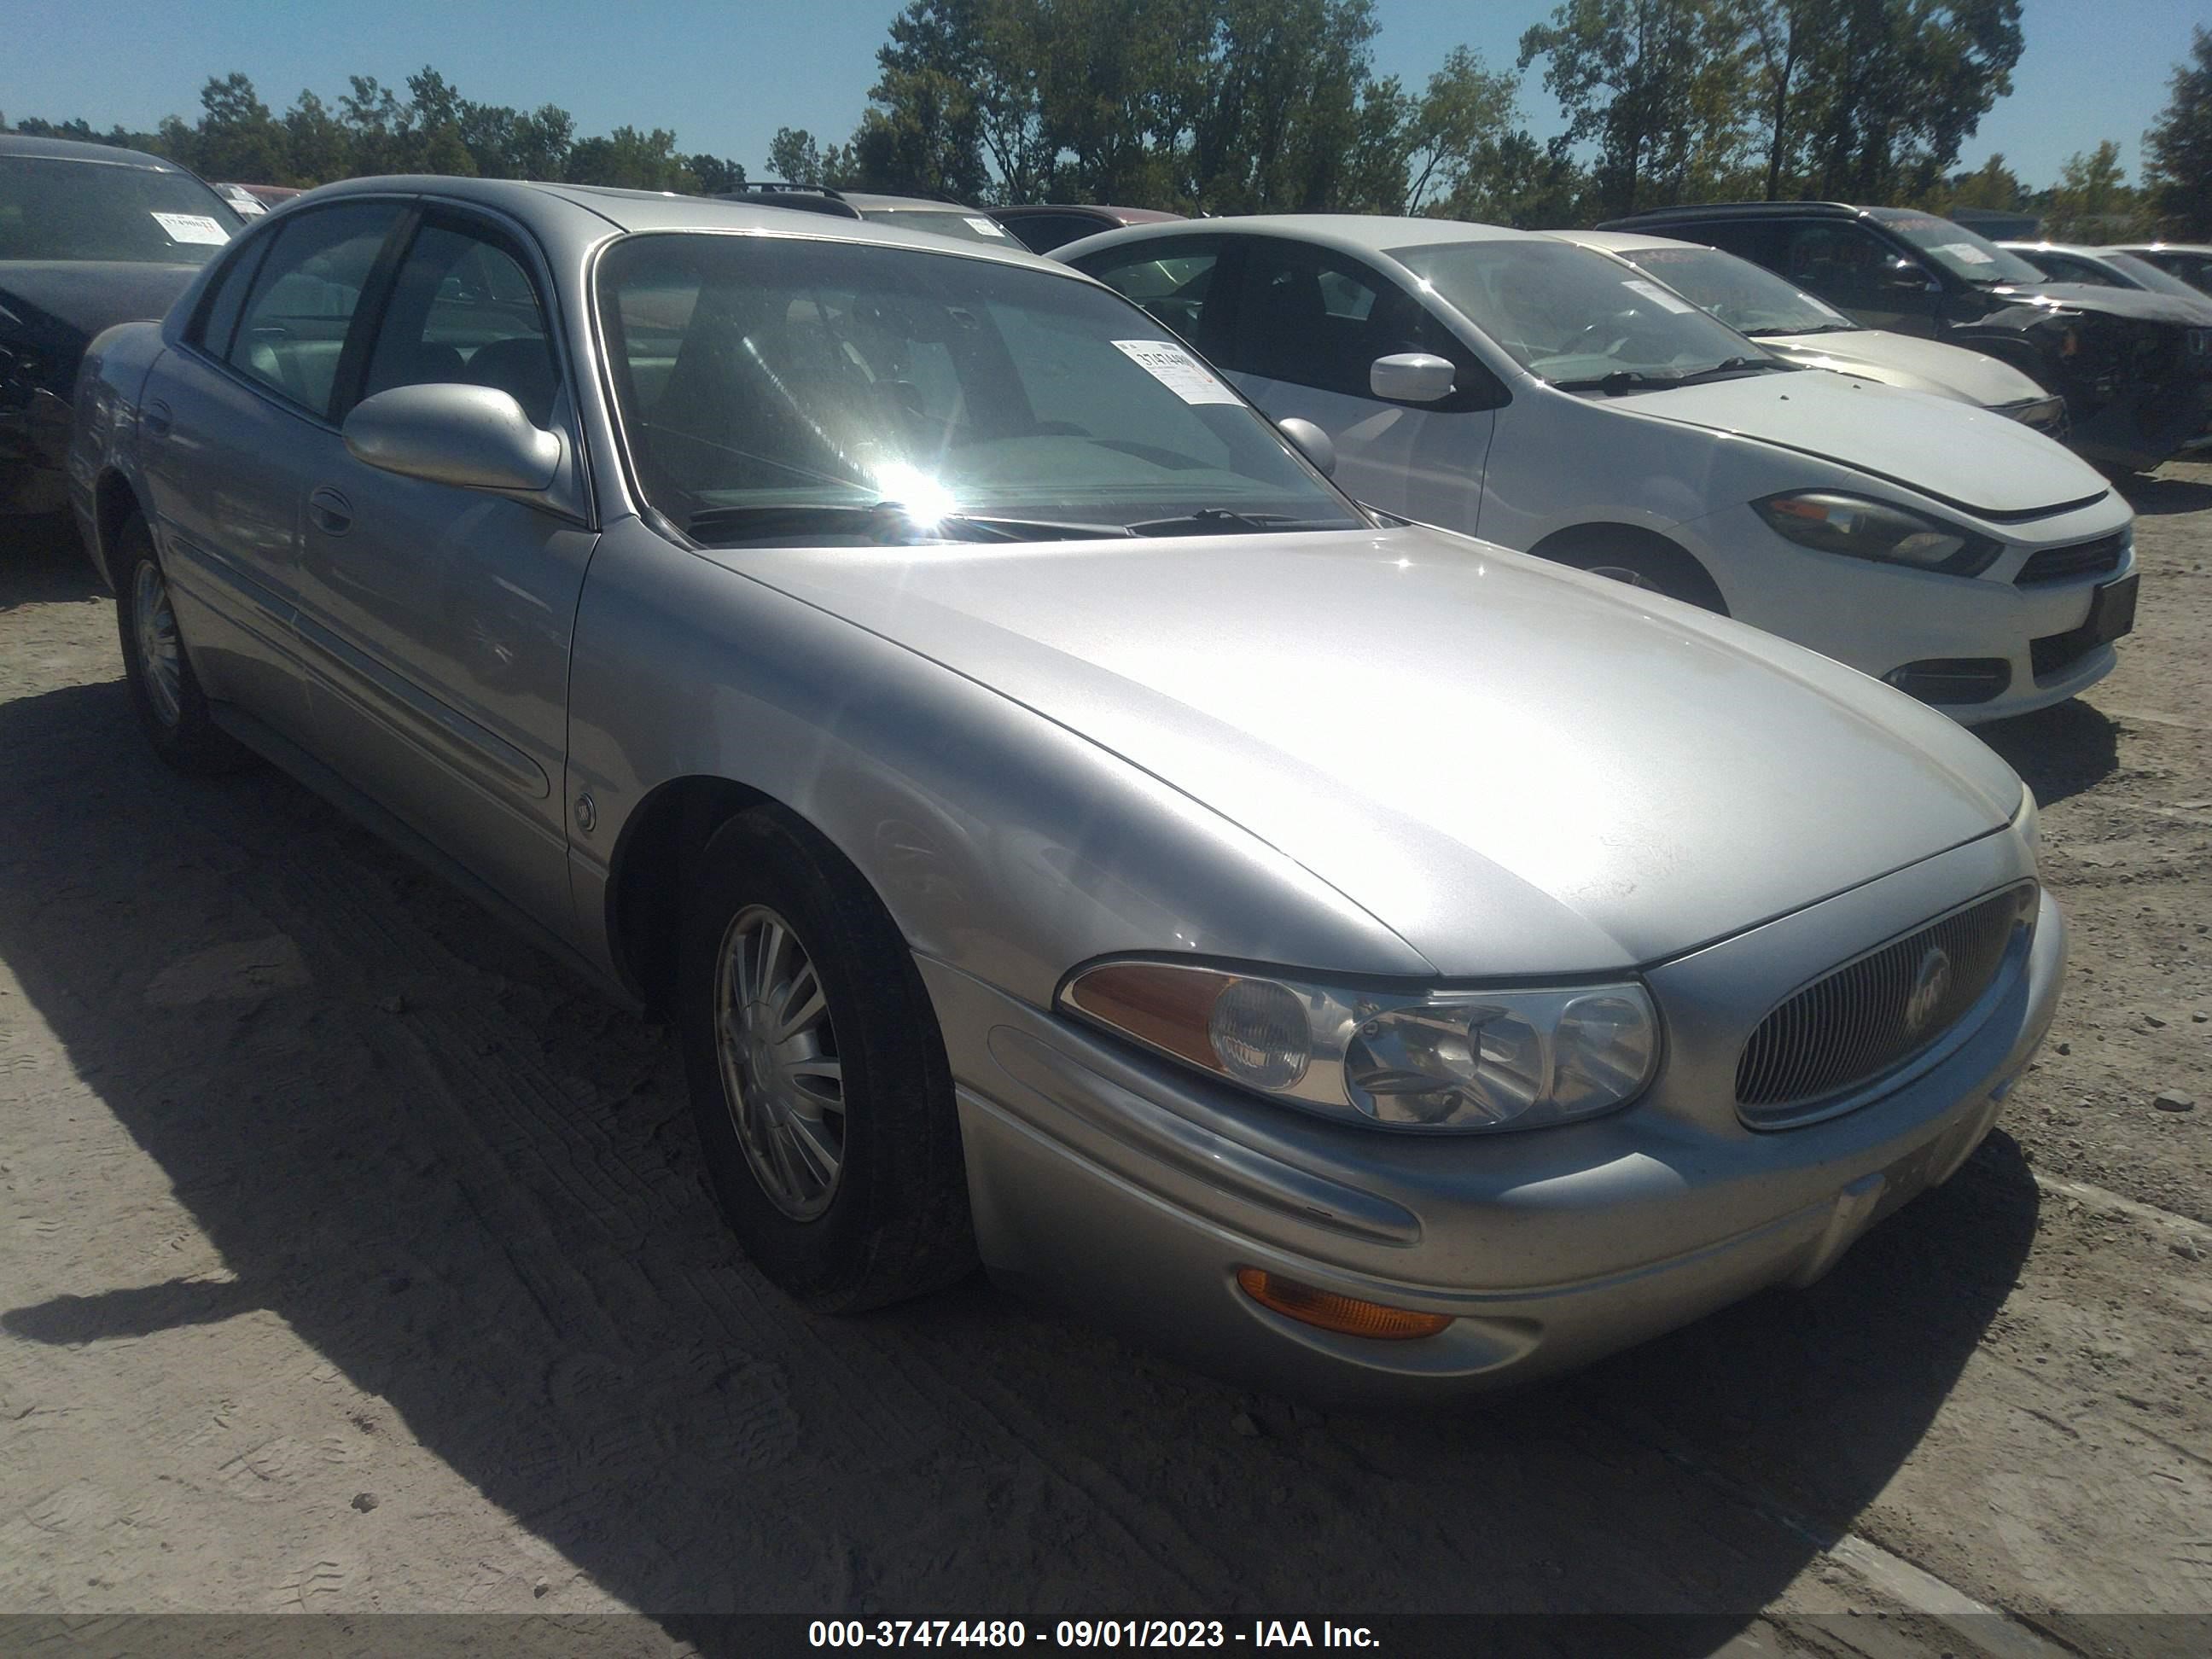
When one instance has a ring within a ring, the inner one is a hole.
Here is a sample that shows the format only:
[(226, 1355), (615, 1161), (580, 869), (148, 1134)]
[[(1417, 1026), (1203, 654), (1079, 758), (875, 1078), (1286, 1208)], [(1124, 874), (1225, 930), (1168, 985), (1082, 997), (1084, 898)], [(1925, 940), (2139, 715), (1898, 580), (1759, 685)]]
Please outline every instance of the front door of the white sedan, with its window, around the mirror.
[[(1285, 237), (1243, 237), (1241, 281), (1212, 319), (1214, 363), (1276, 420), (1336, 442), (1336, 482), (1371, 507), (1475, 531), (1502, 389), (1451, 330), (1374, 265)], [(1433, 405), (1385, 403), (1378, 356), (1429, 352), (1458, 369)]]

